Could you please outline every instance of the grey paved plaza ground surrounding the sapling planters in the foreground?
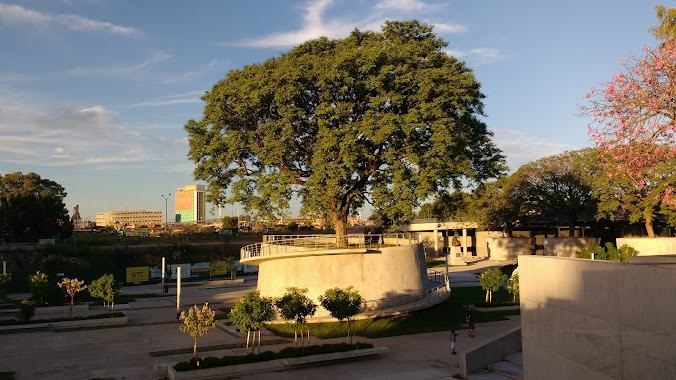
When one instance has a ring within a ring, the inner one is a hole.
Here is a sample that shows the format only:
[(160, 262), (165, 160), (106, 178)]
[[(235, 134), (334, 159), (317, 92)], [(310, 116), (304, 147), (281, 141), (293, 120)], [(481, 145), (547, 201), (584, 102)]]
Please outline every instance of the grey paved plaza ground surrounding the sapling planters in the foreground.
[[(464, 267), (452, 267), (454, 279), (473, 276), (491, 266), (505, 263), (477, 262)], [(445, 268), (443, 268), (445, 270)], [(465, 276), (465, 277), (463, 277)], [(241, 286), (207, 288), (187, 286), (182, 289), (186, 307), (209, 301), (219, 308), (238, 300), (255, 288), (255, 277), (247, 277)], [(160, 293), (159, 285), (128, 287), (123, 293)], [(182, 349), (192, 346), (192, 338), (179, 332), (176, 321), (175, 288), (157, 298), (142, 298), (129, 305), (118, 305), (129, 317), (129, 326), (76, 331), (37, 331), (0, 335), (0, 372), (16, 372), (23, 379), (164, 379), (167, 366), (188, 360), (191, 354), (152, 357), (153, 351)], [(97, 313), (92, 310), (92, 313)], [(510, 320), (477, 324), (476, 337), (459, 331), (458, 350), (490, 340), (493, 336), (520, 324), (520, 317)], [(221, 328), (198, 339), (198, 347), (217, 344), (243, 343), (244, 339)], [(389, 352), (377, 358), (351, 360), (322, 366), (292, 369), (283, 372), (241, 376), (241, 379), (451, 379), (458, 373), (459, 355), (450, 354), (449, 332), (435, 332), (381, 339), (363, 339), (377, 346), (387, 346)], [(270, 333), (263, 337), (271, 339)], [(342, 342), (331, 339), (325, 342)], [(313, 342), (315, 343), (315, 342)], [(285, 345), (267, 346), (277, 350)], [(243, 354), (244, 349), (210, 351), (209, 356)]]

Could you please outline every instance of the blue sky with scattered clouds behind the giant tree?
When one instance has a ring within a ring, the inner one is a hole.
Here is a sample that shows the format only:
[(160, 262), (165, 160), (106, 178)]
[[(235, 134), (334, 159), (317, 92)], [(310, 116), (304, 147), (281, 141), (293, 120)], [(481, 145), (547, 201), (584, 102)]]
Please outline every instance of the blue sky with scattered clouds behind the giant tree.
[(516, 169), (591, 145), (578, 105), (619, 71), (619, 57), (656, 44), (656, 4), (0, 0), (0, 174), (56, 181), (69, 210), (79, 204), (92, 220), (163, 210), (162, 194), (195, 182), (183, 125), (201, 117), (201, 94), (228, 71), (311, 38), (414, 18), (474, 69), (485, 121)]

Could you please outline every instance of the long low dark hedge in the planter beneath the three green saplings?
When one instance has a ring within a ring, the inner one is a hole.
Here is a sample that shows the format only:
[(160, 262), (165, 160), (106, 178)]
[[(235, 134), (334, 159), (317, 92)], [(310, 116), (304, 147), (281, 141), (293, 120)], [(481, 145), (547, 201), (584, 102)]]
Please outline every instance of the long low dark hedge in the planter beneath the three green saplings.
[(356, 344), (323, 344), (321, 346), (309, 346), (304, 349), (296, 347), (286, 347), (279, 352), (265, 351), (258, 355), (248, 354), (244, 356), (223, 356), (221, 358), (208, 357), (200, 361), (199, 367), (195, 365), (195, 361), (180, 362), (174, 365), (174, 369), (178, 372), (192, 371), (196, 369), (206, 369), (213, 367), (223, 367), (236, 364), (259, 363), (275, 359), (298, 358), (310, 355), (329, 354), (333, 352), (347, 352), (352, 350), (359, 350), (365, 348), (373, 348), (370, 343), (356, 343)]

